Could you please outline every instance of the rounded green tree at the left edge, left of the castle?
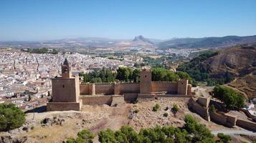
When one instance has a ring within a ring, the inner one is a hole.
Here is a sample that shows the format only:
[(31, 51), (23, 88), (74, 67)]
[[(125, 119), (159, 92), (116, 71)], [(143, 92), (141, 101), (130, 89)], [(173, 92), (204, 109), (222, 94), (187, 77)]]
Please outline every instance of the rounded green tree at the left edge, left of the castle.
[(0, 132), (21, 127), (25, 114), (15, 104), (0, 104)]

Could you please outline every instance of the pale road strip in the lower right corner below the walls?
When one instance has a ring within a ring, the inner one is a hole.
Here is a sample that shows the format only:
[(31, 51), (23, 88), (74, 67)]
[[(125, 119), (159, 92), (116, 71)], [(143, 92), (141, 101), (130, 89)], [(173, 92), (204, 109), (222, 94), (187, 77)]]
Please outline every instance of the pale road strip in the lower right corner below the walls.
[(256, 136), (256, 132), (247, 131), (245, 129), (221, 129), (221, 130), (212, 131), (212, 134), (217, 135), (219, 132), (222, 132), (224, 134), (229, 134), (229, 135), (246, 134), (246, 135)]

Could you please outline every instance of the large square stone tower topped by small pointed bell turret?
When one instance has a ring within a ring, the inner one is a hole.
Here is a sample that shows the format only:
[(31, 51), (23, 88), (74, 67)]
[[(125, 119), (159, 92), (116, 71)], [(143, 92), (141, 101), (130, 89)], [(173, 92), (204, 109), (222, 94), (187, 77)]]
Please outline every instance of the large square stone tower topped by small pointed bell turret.
[(62, 77), (52, 79), (52, 102), (47, 103), (47, 111), (80, 110), (79, 77), (72, 77), (70, 69), (70, 63), (65, 59)]

